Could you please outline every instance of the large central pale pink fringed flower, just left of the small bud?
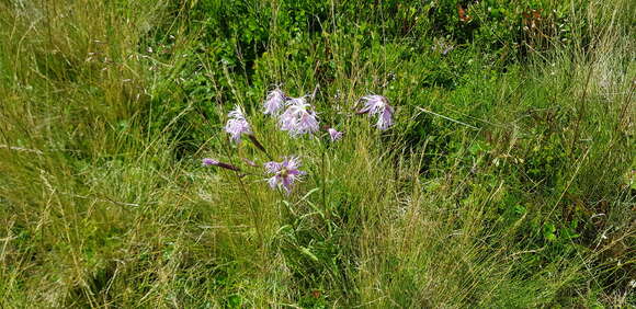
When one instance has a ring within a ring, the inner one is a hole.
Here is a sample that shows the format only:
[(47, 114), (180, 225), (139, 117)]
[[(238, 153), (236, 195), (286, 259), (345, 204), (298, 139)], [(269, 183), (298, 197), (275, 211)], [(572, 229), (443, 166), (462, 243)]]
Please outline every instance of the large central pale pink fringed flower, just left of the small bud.
[(294, 137), (318, 131), (318, 117), (305, 98), (291, 99), (288, 104), (287, 110), (279, 118), (282, 130), (288, 131)]

